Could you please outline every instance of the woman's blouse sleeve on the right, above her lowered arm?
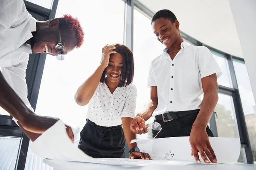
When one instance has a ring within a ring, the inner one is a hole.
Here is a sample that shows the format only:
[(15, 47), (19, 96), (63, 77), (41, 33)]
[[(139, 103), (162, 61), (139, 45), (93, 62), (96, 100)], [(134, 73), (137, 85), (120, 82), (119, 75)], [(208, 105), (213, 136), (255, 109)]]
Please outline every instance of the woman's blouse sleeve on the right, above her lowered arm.
[(135, 109), (136, 109), (136, 98), (137, 98), (137, 88), (134, 84), (131, 85), (131, 91), (125, 100), (124, 108), (122, 109), (121, 118), (122, 117), (135, 117)]

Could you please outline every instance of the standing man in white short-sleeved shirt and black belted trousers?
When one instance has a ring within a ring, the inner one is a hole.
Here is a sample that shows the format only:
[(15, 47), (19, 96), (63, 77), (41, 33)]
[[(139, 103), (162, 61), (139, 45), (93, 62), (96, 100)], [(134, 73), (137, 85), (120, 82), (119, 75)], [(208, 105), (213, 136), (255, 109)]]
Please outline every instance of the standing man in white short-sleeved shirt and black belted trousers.
[(159, 134), (152, 130), (153, 137), (190, 136), (195, 160), (200, 162), (199, 152), (206, 163), (216, 163), (209, 143), (208, 136), (213, 134), (208, 123), (218, 102), (217, 78), (221, 70), (208, 48), (188, 45), (182, 39), (179, 26), (175, 14), (169, 10), (158, 11), (152, 18), (154, 34), (166, 48), (151, 62), (148, 74), (151, 99), (133, 119), (130, 130), (147, 133), (148, 125), (140, 123), (154, 116), (163, 129)]

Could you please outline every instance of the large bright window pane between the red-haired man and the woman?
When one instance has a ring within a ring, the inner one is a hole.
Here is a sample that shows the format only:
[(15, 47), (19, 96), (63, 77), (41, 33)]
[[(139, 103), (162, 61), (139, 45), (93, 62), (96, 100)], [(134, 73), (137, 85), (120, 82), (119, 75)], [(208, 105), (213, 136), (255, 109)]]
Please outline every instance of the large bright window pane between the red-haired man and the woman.
[(58, 117), (71, 125), (75, 144), (79, 142), (79, 132), (86, 122), (88, 107), (77, 105), (74, 95), (98, 67), (102, 47), (107, 43), (123, 44), (125, 18), (125, 3), (122, 0), (93, 0), (90, 5), (78, 4), (81, 4), (80, 0), (73, 0), (72, 3), (60, 0), (56, 17), (63, 14), (77, 17), (84, 29), (84, 44), (67, 54), (63, 61), (47, 55), (35, 110), (38, 115)]

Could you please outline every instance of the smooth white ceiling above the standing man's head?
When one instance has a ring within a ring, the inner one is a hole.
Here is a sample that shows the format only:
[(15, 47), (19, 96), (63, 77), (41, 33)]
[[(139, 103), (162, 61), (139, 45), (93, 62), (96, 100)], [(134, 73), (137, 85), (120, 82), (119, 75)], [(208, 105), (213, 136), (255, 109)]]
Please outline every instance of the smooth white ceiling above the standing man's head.
[(139, 0), (156, 13), (172, 11), (180, 30), (220, 51), (243, 57), (228, 0)]

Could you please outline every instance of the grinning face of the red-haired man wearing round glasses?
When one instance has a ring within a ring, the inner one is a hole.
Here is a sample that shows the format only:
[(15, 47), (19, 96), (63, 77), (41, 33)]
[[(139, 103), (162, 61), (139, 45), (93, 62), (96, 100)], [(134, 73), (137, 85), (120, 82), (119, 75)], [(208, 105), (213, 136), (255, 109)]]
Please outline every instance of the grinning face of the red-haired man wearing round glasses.
[[(60, 54), (61, 52), (55, 48), (60, 41), (59, 27), (58, 19), (37, 25), (37, 31), (31, 44), (32, 52), (46, 53), (52, 56)], [(76, 32), (61, 30), (61, 43), (64, 45), (64, 54), (72, 51), (77, 45)]]

